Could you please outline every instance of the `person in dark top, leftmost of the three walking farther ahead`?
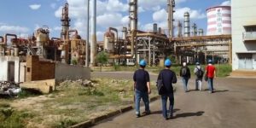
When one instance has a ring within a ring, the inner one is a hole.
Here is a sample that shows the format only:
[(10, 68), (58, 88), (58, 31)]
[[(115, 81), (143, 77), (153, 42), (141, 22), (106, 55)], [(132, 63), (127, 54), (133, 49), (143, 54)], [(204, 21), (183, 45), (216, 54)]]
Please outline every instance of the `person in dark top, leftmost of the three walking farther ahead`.
[(183, 88), (185, 92), (188, 92), (188, 83), (189, 79), (191, 77), (189, 67), (187, 67), (187, 63), (183, 62), (183, 66), (180, 68), (179, 72), (180, 76), (182, 77), (183, 80)]

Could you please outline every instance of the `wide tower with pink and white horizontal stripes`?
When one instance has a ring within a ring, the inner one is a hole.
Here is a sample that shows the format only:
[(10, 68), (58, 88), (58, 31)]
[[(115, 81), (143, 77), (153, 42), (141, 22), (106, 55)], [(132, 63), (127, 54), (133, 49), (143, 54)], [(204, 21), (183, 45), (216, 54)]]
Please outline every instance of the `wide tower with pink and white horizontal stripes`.
[(231, 7), (215, 6), (207, 9), (207, 35), (231, 34)]

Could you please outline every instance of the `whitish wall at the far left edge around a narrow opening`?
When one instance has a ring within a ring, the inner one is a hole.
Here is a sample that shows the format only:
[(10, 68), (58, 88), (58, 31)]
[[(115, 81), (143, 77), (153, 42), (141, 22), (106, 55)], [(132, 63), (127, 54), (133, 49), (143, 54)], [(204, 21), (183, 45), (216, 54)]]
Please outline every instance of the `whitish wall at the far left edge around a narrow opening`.
[(0, 56), (0, 81), (8, 81), (8, 62), (15, 61), (15, 82), (19, 82), (20, 58), (17, 56)]

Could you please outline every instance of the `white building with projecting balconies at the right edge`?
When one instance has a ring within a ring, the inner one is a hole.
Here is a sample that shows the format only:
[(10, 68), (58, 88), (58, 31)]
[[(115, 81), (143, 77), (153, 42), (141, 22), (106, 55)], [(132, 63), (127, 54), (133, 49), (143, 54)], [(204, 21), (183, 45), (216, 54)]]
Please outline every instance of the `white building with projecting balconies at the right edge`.
[(256, 8), (254, 0), (232, 0), (233, 71), (256, 72)]

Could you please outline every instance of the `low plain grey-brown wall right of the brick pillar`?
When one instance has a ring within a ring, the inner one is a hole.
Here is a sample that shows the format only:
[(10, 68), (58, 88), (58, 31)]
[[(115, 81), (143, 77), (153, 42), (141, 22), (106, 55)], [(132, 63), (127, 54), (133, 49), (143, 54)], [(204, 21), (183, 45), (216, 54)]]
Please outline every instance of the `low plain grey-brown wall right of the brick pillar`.
[(67, 64), (55, 64), (55, 81), (90, 79), (90, 68), (81, 66), (70, 66)]

